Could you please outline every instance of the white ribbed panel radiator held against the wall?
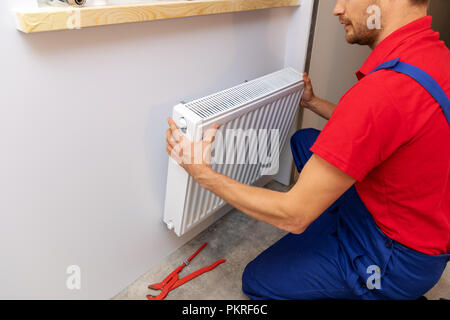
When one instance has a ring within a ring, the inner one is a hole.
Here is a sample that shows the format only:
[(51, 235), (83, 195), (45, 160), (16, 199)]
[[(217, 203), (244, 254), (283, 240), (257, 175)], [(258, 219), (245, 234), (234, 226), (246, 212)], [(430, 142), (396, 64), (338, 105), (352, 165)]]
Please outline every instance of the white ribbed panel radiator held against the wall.
[[(173, 119), (192, 141), (199, 141), (211, 125), (220, 124), (213, 143), (218, 159), (213, 169), (242, 183), (257, 184), (263, 176), (277, 173), (279, 146), (285, 145), (302, 93), (302, 75), (287, 68), (178, 104)], [(164, 208), (169, 229), (181, 236), (224, 205), (169, 159)]]

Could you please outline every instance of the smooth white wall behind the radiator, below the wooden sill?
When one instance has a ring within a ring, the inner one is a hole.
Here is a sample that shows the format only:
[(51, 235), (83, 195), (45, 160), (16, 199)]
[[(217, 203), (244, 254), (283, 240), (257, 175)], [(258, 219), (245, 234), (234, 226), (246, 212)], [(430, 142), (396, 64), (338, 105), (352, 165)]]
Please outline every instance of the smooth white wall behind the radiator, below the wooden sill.
[(306, 9), (26, 35), (26, 3), (0, 1), (0, 298), (110, 298), (193, 236), (162, 223), (172, 106), (302, 68)]

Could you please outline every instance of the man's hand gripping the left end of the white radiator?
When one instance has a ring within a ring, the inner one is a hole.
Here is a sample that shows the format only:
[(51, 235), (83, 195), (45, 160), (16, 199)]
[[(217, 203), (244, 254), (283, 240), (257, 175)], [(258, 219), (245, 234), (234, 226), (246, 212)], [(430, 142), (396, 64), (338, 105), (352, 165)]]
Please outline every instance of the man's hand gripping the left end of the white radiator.
[(181, 134), (172, 118), (168, 119), (168, 123), (167, 153), (198, 181), (203, 173), (211, 170), (211, 146), (219, 125), (213, 125), (206, 130), (202, 141), (192, 142)]

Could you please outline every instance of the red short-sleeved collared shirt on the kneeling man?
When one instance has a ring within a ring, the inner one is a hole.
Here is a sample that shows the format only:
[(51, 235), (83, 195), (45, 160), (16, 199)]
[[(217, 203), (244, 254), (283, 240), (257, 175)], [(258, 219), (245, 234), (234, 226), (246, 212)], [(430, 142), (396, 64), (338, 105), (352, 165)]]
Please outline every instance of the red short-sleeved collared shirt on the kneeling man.
[(409, 76), (368, 75), (398, 57), (450, 96), (450, 51), (431, 17), (418, 19), (373, 50), (311, 151), (357, 180), (361, 200), (388, 237), (422, 253), (450, 253), (449, 123)]

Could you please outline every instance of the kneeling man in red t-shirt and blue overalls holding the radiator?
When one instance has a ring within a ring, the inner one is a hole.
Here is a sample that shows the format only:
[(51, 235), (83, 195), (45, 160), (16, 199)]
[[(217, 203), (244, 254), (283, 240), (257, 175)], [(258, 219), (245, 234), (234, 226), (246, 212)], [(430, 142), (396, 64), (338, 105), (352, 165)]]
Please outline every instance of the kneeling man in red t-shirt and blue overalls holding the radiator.
[[(450, 258), (450, 53), (427, 2), (337, 1), (346, 40), (373, 52), (337, 106), (304, 76), (301, 105), (329, 121), (292, 137), (300, 176), (287, 193), (220, 175), (208, 158), (188, 164), (195, 144), (169, 119), (167, 152), (200, 185), (290, 232), (246, 267), (250, 298), (417, 299), (441, 277)], [(381, 28), (368, 27), (369, 7)], [(215, 130), (198, 143), (206, 152)], [(189, 148), (173, 152), (180, 142)]]

